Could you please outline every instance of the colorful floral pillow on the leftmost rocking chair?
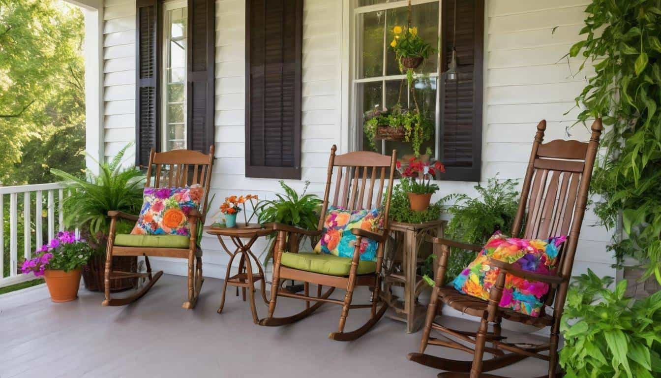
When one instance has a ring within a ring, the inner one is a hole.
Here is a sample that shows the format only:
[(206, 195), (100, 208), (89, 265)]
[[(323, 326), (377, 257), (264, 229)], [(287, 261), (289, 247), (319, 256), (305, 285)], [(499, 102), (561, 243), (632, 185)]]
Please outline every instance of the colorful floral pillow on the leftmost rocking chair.
[(190, 236), (188, 214), (192, 209), (199, 209), (203, 194), (200, 185), (146, 187), (142, 209), (131, 234)]

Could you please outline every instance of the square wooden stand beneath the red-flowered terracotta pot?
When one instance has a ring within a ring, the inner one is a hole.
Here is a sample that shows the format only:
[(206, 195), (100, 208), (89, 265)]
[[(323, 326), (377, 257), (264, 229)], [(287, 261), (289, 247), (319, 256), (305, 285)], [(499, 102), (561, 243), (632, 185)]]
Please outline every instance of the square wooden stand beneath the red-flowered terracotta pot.
[[(424, 261), (418, 258), (420, 246), (428, 235), (442, 237), (446, 223), (446, 220), (433, 220), (424, 223), (390, 222), (389, 224), (395, 243), (391, 248), (386, 248), (390, 254), (385, 261), (381, 298), (392, 309), (387, 316), (406, 322), (407, 333), (420, 329), (426, 313), (426, 307), (418, 303), (418, 295), (428, 287), (422, 276), (416, 273), (418, 265)], [(388, 240), (387, 244), (391, 244), (392, 241)], [(434, 267), (438, 263), (437, 260), (434, 260)], [(404, 287), (403, 301), (392, 294), (393, 286)]]

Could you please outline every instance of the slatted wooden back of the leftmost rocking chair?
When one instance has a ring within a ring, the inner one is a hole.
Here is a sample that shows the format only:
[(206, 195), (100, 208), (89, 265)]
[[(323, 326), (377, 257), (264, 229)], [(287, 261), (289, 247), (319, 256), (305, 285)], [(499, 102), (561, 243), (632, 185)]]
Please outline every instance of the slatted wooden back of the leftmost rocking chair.
[(200, 209), (202, 222), (204, 223), (208, 205), (211, 169), (214, 164), (214, 150), (214, 145), (210, 146), (209, 154), (206, 155), (191, 150), (155, 152), (152, 148), (149, 153), (145, 187), (151, 187), (152, 172), (155, 173), (153, 175), (154, 187), (184, 187), (200, 184), (204, 190), (204, 201), (202, 201)]

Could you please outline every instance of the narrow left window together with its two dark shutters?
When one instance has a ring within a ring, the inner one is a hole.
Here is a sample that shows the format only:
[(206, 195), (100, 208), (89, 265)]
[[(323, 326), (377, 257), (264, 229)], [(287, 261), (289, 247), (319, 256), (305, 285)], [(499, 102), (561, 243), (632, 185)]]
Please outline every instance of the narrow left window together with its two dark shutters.
[(136, 165), (214, 143), (215, 0), (136, 0)]

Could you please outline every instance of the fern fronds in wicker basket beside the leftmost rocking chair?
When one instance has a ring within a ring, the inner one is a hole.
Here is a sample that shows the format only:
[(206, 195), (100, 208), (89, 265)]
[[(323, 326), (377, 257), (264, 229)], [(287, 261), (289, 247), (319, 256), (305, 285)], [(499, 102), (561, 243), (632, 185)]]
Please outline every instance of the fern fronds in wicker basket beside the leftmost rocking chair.
[(88, 171), (87, 180), (80, 179), (59, 169), (51, 172), (64, 179), (71, 195), (63, 200), (64, 222), (67, 227), (107, 234), (110, 226), (108, 211), (116, 210), (137, 214), (142, 205), (142, 189), (145, 177), (136, 167), (122, 169), (124, 146), (111, 162), (98, 163), (98, 175)]

